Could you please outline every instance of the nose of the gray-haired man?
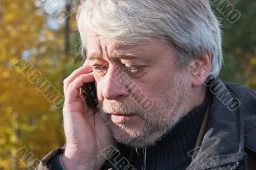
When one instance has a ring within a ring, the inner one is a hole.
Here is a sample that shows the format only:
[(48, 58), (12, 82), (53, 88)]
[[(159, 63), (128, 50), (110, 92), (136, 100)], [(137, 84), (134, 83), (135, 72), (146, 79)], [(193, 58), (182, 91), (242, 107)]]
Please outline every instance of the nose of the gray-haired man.
[(125, 97), (128, 95), (125, 91), (125, 82), (129, 81), (127, 74), (109, 72), (104, 77), (104, 84), (102, 84), (102, 95), (107, 100), (114, 100), (116, 98)]

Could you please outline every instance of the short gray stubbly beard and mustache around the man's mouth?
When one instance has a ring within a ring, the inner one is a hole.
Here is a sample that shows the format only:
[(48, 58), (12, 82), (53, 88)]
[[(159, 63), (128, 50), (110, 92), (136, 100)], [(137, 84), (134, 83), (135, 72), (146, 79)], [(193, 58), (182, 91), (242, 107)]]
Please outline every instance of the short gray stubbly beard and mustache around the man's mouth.
[[(143, 112), (139, 105), (131, 107), (127, 103), (109, 104), (107, 102), (99, 105), (100, 115), (116, 141), (136, 148), (154, 145), (166, 132), (172, 130), (191, 109), (192, 102), (189, 100), (188, 81), (182, 79), (180, 73), (176, 73), (170, 89), (159, 99), (154, 100), (154, 107), (147, 113)], [(111, 121), (111, 116), (106, 114), (108, 112), (136, 113), (145, 120), (145, 126), (140, 132), (129, 134), (125, 130), (127, 128), (125, 125), (116, 125)]]

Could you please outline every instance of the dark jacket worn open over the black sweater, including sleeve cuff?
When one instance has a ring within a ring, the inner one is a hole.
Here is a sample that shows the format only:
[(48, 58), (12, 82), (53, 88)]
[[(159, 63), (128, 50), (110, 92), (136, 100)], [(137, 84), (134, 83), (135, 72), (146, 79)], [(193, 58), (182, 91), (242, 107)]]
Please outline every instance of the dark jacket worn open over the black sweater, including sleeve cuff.
[[(187, 169), (256, 169), (256, 93), (214, 77), (205, 82), (211, 107), (205, 114), (192, 161)], [(52, 169), (52, 159), (65, 151), (46, 155), (36, 169)], [(116, 169), (106, 161), (102, 169)]]

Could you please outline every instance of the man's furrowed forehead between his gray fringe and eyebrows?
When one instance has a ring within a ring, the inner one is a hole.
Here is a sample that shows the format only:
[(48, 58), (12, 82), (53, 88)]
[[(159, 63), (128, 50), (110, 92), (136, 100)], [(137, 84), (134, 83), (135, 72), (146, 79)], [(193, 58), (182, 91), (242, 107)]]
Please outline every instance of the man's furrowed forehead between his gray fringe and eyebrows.
[[(109, 38), (104, 38), (95, 32), (87, 36), (86, 53), (88, 60), (100, 59), (108, 53), (111, 58), (119, 59), (141, 59), (154, 58), (157, 52), (163, 51), (166, 43), (159, 38), (152, 38), (150, 41), (140, 44), (119, 43)], [(161, 49), (159, 51), (159, 49)]]

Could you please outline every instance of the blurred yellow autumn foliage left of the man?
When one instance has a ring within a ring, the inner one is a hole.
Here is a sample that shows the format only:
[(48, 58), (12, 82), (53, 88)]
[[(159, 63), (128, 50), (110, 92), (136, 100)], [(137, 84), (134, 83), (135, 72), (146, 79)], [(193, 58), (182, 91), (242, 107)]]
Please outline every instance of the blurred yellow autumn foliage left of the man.
[(13, 155), (24, 146), (33, 159), (41, 159), (64, 143), (61, 109), (13, 66), (28, 60), (60, 93), (63, 79), (79, 66), (71, 57), (74, 52), (65, 53), (65, 22), (35, 4), (0, 1), (0, 169), (27, 169), (29, 162)]

